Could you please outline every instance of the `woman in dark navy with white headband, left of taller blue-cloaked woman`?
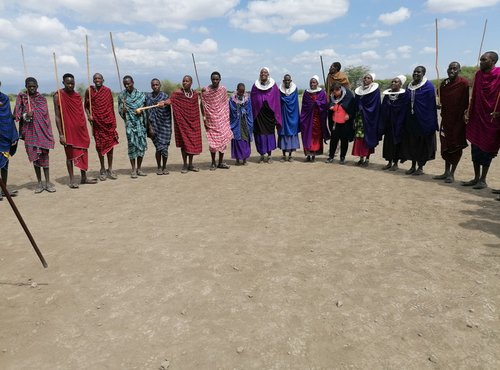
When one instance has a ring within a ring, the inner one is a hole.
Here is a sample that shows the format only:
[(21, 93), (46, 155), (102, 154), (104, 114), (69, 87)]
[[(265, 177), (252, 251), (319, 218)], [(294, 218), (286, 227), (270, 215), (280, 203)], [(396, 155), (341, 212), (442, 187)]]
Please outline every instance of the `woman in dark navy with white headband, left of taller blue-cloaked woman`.
[(384, 132), (384, 145), (382, 156), (387, 161), (382, 169), (396, 171), (401, 151), (401, 136), (403, 123), (408, 110), (409, 95), (403, 85), (406, 82), (405, 75), (394, 77), (391, 88), (384, 90), (382, 95), (382, 130)]

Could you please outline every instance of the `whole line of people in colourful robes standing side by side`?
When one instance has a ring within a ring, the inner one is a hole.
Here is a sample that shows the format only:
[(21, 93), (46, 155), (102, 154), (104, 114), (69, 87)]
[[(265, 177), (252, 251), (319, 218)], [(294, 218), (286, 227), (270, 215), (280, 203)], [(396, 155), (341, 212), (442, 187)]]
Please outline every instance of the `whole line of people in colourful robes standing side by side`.
[[(362, 85), (352, 92), (348, 77), (341, 72), (340, 63), (335, 62), (329, 69), (326, 91), (319, 86), (317, 75), (310, 79), (300, 110), (298, 89), (292, 77), (286, 74), (278, 86), (265, 67), (260, 70), (250, 93), (246, 92), (243, 83), (239, 83), (229, 98), (220, 83), (219, 72), (213, 72), (212, 83), (199, 92), (192, 89), (192, 78), (186, 75), (182, 87), (171, 96), (161, 91), (160, 80), (156, 78), (151, 81), (152, 91), (146, 94), (138, 91), (133, 78), (127, 75), (123, 78), (124, 90), (118, 96), (118, 112), (125, 122), (131, 177), (146, 176), (142, 161), (147, 137), (156, 149), (157, 175), (169, 173), (167, 161), (172, 121), (176, 146), (181, 149), (183, 159), (181, 172), (198, 172), (193, 157), (202, 152), (202, 120), (212, 158), (210, 170), (229, 168), (224, 161), (229, 143), (236, 165), (247, 164), (253, 140), (260, 154), (259, 163), (271, 163), (276, 148), (282, 151), (280, 161), (291, 162), (293, 152), (300, 148), (300, 133), (306, 162), (314, 162), (329, 141), (326, 162), (334, 161), (340, 143), (339, 163), (345, 164), (349, 142), (353, 142), (352, 155), (359, 157), (356, 164), (367, 166), (370, 155), (383, 138), (382, 155), (388, 161), (384, 170), (395, 171), (398, 163), (408, 160), (411, 167), (406, 174), (421, 175), (426, 162), (435, 158), (438, 131), (445, 171), (435, 178), (447, 183), (454, 181), (462, 150), (469, 140), (475, 177), (462, 185), (482, 189), (487, 186), (491, 160), (500, 148), (500, 68), (495, 67), (497, 61), (495, 52), (481, 56), (470, 101), (468, 82), (459, 76), (460, 64), (450, 63), (448, 78), (438, 89), (439, 104), (436, 104), (434, 86), (425, 78), (423, 66), (414, 69), (413, 80), (406, 89), (406, 77), (399, 75), (392, 79), (389, 89), (381, 92), (374, 81), (375, 75), (368, 73), (363, 76)], [(100, 73), (93, 76), (93, 82), (82, 104), (82, 97), (75, 91), (74, 76), (67, 73), (63, 76), (64, 88), (53, 97), (70, 188), (79, 187), (73, 166), (81, 171), (80, 184), (97, 182), (86, 175), (90, 146), (87, 120), (100, 160), (99, 180), (117, 178), (113, 170), (113, 148), (118, 144), (113, 95), (104, 86)], [(17, 96), (14, 114), (8, 97), (0, 93), (1, 176), (6, 183), (8, 159), (15, 153), (20, 138), (35, 168), (38, 180), (35, 193), (54, 192), (49, 174), (49, 150), (54, 148), (54, 138), (47, 101), (37, 91), (36, 79), (27, 78), (25, 87), (26, 91)], [(441, 110), (441, 127), (438, 126), (438, 109)], [(19, 136), (15, 122), (19, 124)]]

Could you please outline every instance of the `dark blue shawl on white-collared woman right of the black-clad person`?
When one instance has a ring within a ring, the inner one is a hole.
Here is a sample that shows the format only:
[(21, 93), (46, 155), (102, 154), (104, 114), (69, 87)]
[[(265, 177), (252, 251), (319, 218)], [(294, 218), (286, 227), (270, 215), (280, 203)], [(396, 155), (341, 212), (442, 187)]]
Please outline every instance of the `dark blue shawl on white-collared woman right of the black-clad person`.
[(376, 89), (366, 95), (356, 95), (356, 108), (363, 119), (364, 141), (368, 148), (373, 149), (382, 138), (380, 123), (380, 90)]

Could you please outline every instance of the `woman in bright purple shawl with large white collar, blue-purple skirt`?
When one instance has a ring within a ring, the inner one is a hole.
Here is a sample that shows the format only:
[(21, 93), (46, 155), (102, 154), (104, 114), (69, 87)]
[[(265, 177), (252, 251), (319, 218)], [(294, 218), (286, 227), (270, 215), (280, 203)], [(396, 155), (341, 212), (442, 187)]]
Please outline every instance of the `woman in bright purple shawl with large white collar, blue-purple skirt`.
[[(276, 149), (276, 127), (281, 129), (280, 90), (269, 69), (260, 70), (260, 76), (250, 92), (254, 117), (253, 133), (255, 147), (260, 154), (259, 163), (272, 163), (271, 153)], [(267, 158), (264, 157), (267, 154)]]

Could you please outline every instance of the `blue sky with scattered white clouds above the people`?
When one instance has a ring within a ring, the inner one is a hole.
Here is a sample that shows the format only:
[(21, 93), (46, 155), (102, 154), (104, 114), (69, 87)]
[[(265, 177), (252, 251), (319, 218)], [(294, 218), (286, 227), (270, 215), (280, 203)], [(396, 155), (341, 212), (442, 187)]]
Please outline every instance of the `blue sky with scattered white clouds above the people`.
[(3, 92), (24, 85), (21, 44), (40, 91), (55, 90), (53, 52), (60, 76), (71, 72), (87, 84), (85, 35), (91, 73), (118, 90), (110, 31), (121, 76), (145, 91), (153, 77), (194, 77), (191, 53), (202, 85), (217, 70), (229, 90), (239, 81), (249, 89), (264, 66), (274, 79), (290, 73), (305, 88), (312, 75), (321, 77), (320, 55), (326, 70), (339, 61), (392, 78), (423, 64), (435, 78), (436, 18), (441, 77), (453, 60), (476, 64), (487, 18), (483, 51), (500, 44), (500, 0), (0, 0), (0, 11)]

